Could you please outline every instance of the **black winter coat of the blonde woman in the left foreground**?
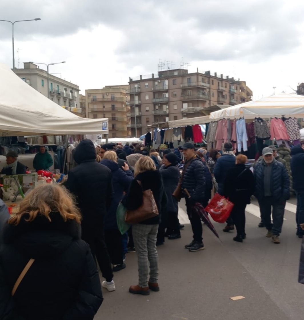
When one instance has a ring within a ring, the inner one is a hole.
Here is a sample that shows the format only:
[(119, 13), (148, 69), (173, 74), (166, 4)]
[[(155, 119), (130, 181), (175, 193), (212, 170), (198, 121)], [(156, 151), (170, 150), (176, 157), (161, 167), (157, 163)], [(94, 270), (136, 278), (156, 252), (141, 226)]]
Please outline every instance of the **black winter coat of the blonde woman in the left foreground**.
[[(0, 252), (0, 319), (89, 320), (103, 301), (100, 279), (80, 224), (50, 213), (6, 224)], [(23, 268), (35, 259), (13, 298)], [(7, 301), (4, 303), (4, 301)], [(10, 316), (4, 316), (7, 313)], [(12, 314), (14, 316), (12, 316)]]

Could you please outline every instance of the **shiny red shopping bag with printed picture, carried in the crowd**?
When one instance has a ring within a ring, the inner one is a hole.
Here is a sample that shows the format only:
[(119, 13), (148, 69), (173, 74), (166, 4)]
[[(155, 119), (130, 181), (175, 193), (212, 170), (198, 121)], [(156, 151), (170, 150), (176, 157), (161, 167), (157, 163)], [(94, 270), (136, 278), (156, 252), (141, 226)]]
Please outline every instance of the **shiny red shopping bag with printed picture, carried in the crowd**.
[(224, 223), (232, 211), (234, 204), (218, 193), (212, 198), (205, 208), (212, 219), (219, 223)]

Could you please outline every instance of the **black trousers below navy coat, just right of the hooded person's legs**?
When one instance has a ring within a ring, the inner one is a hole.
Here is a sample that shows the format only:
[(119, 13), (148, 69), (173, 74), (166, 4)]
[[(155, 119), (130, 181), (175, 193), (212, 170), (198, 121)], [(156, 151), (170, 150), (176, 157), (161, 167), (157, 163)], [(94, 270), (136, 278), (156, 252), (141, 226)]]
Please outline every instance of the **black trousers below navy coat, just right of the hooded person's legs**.
[(123, 264), (123, 236), (118, 229), (105, 229), (104, 238), (112, 264)]

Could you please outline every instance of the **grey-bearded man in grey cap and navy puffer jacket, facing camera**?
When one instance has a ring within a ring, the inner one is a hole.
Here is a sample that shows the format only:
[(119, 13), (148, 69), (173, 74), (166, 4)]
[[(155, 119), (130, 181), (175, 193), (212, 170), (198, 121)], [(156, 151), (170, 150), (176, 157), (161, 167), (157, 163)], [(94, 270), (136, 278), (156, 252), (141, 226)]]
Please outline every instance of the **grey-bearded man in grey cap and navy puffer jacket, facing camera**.
[[(254, 169), (256, 181), (255, 196), (260, 205), (263, 222), (267, 228), (267, 237), (279, 244), (282, 231), (286, 200), (289, 199), (289, 177), (283, 164), (273, 157), (270, 148), (262, 151), (263, 160)], [(272, 220), (271, 224), (271, 207)]]

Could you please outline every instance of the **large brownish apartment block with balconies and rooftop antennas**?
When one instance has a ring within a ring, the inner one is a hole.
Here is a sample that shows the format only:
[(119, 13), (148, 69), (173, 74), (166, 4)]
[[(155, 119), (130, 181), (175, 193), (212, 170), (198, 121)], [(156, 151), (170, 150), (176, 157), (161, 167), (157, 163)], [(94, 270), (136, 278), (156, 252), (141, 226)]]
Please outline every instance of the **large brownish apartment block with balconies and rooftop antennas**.
[(240, 83), (198, 69), (195, 73), (175, 69), (129, 78), (132, 136), (145, 134), (152, 123), (209, 115), (218, 105), (241, 103)]

